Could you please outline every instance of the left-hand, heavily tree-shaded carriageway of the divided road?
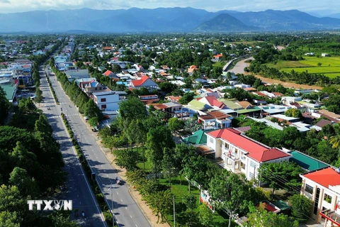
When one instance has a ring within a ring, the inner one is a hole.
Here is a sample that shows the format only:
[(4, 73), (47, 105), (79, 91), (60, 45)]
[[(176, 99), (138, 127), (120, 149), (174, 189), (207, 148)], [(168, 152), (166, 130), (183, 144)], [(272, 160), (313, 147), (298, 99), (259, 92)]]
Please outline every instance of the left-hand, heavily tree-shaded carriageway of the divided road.
[[(60, 150), (65, 162), (64, 169), (69, 174), (66, 189), (57, 196), (57, 199), (72, 200), (73, 210), (78, 209), (79, 214), (78, 217), (72, 214), (71, 218), (81, 226), (107, 226), (106, 222), (103, 221), (101, 211), (81, 168), (72, 142), (69, 140), (69, 135), (64, 128), (60, 117), (60, 107), (55, 104), (43, 71), (40, 71), (40, 77), (40, 89), (42, 96), (44, 96), (44, 102), (40, 104), (40, 109), (47, 116), (52, 126), (54, 138), (60, 143)], [(47, 110), (47, 107), (50, 107), (51, 110)], [(84, 211), (85, 217), (81, 216), (81, 211)]]

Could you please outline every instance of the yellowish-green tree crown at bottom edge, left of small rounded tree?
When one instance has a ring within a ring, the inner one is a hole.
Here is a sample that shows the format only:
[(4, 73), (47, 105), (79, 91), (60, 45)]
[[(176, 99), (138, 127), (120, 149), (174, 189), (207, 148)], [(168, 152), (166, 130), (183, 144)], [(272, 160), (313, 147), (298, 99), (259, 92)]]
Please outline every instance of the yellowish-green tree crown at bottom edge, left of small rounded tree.
[(266, 211), (265, 204), (259, 204), (258, 207), (249, 205), (250, 213), (248, 214), (247, 226), (251, 227), (298, 227), (299, 223), (293, 218), (284, 214), (275, 214), (271, 211)]

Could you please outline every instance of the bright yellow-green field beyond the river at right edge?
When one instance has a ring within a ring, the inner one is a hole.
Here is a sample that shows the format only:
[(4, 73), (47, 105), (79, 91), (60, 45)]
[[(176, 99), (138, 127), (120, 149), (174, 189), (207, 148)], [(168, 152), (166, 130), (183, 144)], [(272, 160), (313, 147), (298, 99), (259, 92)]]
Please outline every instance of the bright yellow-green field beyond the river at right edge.
[[(276, 64), (267, 64), (283, 72), (310, 72), (324, 74), (327, 77), (340, 76), (340, 57), (304, 57), (302, 61), (280, 61)], [(322, 65), (318, 66), (318, 63)]]

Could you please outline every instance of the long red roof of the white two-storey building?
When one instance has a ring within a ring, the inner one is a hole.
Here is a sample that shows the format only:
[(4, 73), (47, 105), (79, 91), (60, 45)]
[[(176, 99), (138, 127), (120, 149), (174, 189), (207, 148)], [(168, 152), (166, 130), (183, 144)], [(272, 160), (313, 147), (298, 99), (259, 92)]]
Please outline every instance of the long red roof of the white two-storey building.
[(278, 159), (280, 157), (289, 156), (287, 153), (284, 153), (277, 148), (266, 148), (264, 145), (250, 140), (249, 138), (241, 135), (241, 132), (236, 131), (233, 128), (223, 128), (212, 131), (208, 134), (215, 138), (222, 138), (229, 141), (233, 145), (236, 145), (237, 147), (249, 153), (248, 156), (258, 162), (266, 162), (269, 160)]

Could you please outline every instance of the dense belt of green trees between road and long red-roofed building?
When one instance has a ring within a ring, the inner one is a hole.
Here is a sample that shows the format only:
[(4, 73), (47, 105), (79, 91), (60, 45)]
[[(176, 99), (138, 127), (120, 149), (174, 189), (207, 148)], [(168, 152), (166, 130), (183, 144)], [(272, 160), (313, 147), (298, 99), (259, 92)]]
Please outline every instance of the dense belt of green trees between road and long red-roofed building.
[[(120, 103), (119, 111), (111, 128), (101, 129), (98, 135), (106, 148), (113, 151), (115, 163), (128, 170), (128, 181), (142, 194), (160, 221), (171, 218), (177, 179), (179, 184), (188, 184), (188, 191), (181, 194), (180, 202), (176, 202), (176, 225), (179, 226), (221, 225), (213, 221), (214, 215), (207, 206), (197, 208), (198, 199), (191, 194), (192, 184), (208, 190), (212, 201), (215, 201), (215, 209), (227, 211), (230, 217), (234, 214), (247, 215), (253, 212), (254, 204), (271, 199), (260, 188), (252, 187), (253, 183), (243, 175), (221, 169), (198, 155), (195, 147), (175, 145), (163, 112), (154, 110), (147, 113), (145, 105), (133, 96)], [(144, 162), (141, 168), (137, 167), (140, 161)], [(151, 175), (148, 176), (145, 161), (151, 167)], [(271, 214), (263, 212), (261, 215), (268, 218)], [(254, 221), (261, 223), (259, 219)], [(285, 226), (296, 226), (296, 222), (286, 215), (279, 216), (278, 221), (284, 222)], [(230, 219), (227, 222), (228, 225), (232, 223)]]

